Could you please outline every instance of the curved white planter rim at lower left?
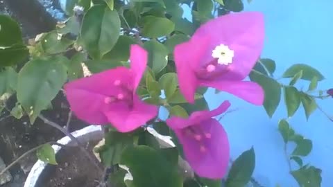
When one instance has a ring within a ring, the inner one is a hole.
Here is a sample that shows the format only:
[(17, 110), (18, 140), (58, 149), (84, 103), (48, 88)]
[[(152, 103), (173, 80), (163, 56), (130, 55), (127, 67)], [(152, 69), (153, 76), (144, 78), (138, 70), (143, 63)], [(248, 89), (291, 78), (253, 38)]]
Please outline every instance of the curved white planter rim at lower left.
[[(76, 137), (82, 142), (103, 139), (103, 132), (101, 126), (99, 125), (89, 125), (87, 127), (84, 127), (83, 129), (72, 132), (71, 134), (73, 134), (74, 137)], [(65, 136), (62, 139), (59, 139), (57, 143), (60, 143), (62, 145), (70, 145), (73, 142), (68, 136)], [(56, 152), (56, 154), (58, 154), (58, 152), (61, 150), (61, 147), (58, 145), (52, 145), (52, 148)], [(24, 183), (24, 187), (36, 187), (37, 181), (40, 179), (40, 176), (42, 172), (44, 172), (46, 166), (47, 163), (38, 160), (33, 165), (33, 168), (31, 168), (31, 171), (29, 172), (28, 177), (26, 178), (26, 181)]]

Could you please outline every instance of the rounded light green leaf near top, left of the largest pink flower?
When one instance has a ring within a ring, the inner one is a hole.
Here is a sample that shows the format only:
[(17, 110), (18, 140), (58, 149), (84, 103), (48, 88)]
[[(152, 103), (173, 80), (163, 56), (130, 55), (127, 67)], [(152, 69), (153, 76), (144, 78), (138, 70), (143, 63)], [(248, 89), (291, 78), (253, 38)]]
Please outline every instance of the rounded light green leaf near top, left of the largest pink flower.
[(162, 37), (175, 30), (175, 24), (166, 17), (148, 15), (142, 19), (142, 35), (144, 37)]

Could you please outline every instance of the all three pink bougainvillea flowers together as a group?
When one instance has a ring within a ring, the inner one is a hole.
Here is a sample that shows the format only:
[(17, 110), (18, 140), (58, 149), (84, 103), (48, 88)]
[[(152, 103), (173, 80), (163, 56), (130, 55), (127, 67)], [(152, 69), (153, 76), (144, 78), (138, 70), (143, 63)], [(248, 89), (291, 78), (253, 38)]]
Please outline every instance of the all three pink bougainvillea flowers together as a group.
[[(207, 21), (188, 42), (178, 44), (174, 60), (179, 87), (194, 103), (198, 87), (212, 87), (262, 105), (264, 91), (255, 82), (244, 81), (264, 45), (264, 20), (259, 12), (241, 12)], [(130, 68), (96, 73), (65, 84), (71, 110), (87, 123), (111, 123), (119, 132), (130, 132), (158, 114), (158, 107), (144, 103), (136, 94), (147, 66), (148, 54), (139, 45), (130, 47)], [(185, 158), (200, 176), (221, 179), (228, 168), (228, 136), (214, 119), (225, 112), (224, 101), (212, 111), (198, 111), (189, 118), (172, 116), (167, 125), (176, 133)]]

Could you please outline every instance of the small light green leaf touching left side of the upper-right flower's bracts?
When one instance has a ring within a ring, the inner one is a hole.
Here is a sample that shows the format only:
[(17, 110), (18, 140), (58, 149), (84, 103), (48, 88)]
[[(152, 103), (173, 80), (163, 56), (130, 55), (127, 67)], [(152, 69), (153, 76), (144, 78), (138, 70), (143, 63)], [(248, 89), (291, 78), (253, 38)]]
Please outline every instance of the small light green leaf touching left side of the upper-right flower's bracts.
[(164, 89), (164, 94), (167, 98), (170, 98), (178, 86), (178, 78), (176, 73), (165, 73), (162, 75), (160, 80), (158, 80), (160, 87)]

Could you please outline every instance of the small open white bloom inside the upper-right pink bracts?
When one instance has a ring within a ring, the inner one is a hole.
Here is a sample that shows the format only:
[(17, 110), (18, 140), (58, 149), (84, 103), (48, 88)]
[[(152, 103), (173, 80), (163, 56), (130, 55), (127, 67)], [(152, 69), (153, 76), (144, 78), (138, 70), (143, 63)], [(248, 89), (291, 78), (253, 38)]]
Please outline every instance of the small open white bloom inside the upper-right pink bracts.
[(217, 63), (228, 65), (232, 63), (234, 51), (232, 51), (228, 46), (221, 44), (214, 48), (214, 50), (212, 51), (212, 57), (218, 59)]

